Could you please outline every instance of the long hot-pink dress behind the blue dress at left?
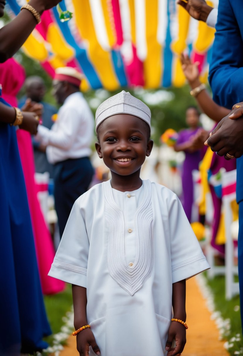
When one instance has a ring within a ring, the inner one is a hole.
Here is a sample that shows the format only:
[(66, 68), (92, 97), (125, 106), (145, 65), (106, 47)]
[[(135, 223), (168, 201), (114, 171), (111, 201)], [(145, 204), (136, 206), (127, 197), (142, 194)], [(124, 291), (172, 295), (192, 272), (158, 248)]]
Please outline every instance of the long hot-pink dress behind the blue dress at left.
[[(16, 95), (22, 87), (24, 80), (24, 68), (15, 59), (10, 58), (5, 63), (0, 64), (0, 82), (3, 87), (2, 98), (12, 106), (17, 106)], [(59, 279), (47, 276), (55, 256), (55, 250), (50, 231), (46, 226), (40, 203), (37, 199), (37, 187), (34, 181), (35, 166), (30, 133), (24, 130), (17, 130), (17, 141), (29, 201), (42, 292), (43, 294), (58, 293), (65, 288), (65, 283)]]

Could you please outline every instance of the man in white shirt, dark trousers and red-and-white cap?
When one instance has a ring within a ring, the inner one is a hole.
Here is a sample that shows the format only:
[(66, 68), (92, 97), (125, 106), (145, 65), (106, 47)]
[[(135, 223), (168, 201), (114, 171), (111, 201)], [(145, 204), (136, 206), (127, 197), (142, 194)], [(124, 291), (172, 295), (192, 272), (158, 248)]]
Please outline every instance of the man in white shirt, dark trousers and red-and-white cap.
[(89, 160), (94, 118), (79, 87), (82, 74), (75, 68), (57, 68), (53, 95), (62, 104), (51, 130), (40, 125), (37, 138), (47, 146), (54, 165), (54, 197), (62, 236), (74, 201), (87, 191), (93, 176)]

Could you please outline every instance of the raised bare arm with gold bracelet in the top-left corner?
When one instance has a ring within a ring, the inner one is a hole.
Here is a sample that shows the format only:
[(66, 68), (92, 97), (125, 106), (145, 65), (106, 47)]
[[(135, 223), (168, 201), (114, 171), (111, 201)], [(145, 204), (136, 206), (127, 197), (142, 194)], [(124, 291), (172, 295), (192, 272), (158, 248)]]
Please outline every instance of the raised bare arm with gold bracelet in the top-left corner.
[[(29, 5), (41, 15), (45, 10), (56, 6), (61, 0), (30, 0)], [(0, 29), (0, 62), (11, 58), (37, 25), (29, 10), (23, 9), (14, 20)]]

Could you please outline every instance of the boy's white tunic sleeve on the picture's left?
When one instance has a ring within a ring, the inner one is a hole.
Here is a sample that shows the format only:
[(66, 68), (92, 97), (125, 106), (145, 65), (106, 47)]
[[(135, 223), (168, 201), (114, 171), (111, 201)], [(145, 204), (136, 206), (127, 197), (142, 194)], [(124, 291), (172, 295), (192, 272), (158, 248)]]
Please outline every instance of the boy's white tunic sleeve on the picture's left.
[(80, 199), (73, 205), (48, 276), (86, 288), (89, 240)]

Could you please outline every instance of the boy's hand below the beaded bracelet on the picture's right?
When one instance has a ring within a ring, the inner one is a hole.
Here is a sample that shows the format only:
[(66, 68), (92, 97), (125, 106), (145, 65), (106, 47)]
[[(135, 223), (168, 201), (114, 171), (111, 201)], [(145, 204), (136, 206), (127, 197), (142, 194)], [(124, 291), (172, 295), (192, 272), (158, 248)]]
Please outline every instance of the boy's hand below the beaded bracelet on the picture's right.
[[(171, 348), (172, 341), (175, 339), (176, 347)], [(186, 344), (186, 328), (184, 325), (172, 321), (168, 331), (168, 337), (165, 345), (165, 350), (168, 351), (167, 356), (179, 356)]]

